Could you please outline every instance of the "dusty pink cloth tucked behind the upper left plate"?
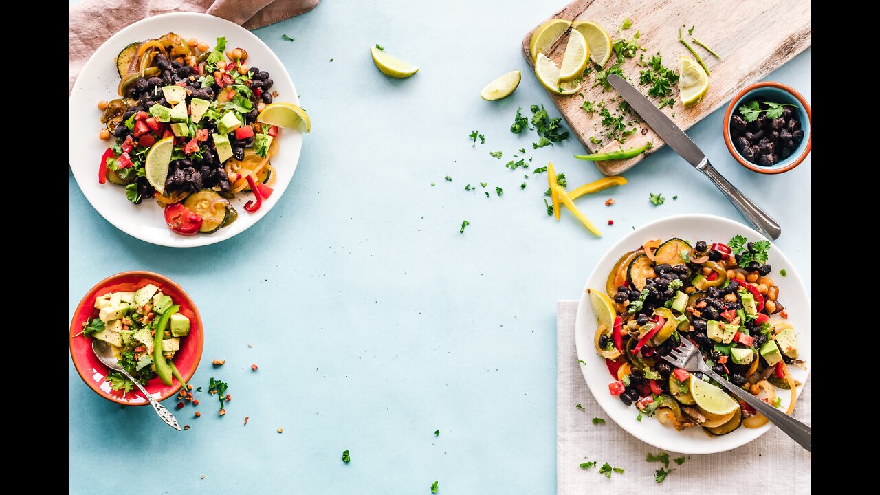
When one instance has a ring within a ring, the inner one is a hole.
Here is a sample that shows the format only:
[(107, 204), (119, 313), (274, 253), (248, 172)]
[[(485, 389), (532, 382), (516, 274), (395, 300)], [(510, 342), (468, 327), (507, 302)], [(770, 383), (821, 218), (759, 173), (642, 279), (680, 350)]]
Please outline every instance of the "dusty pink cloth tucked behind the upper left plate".
[(129, 24), (167, 12), (205, 12), (256, 29), (311, 11), (320, 0), (86, 0), (68, 11), (68, 94), (101, 43)]

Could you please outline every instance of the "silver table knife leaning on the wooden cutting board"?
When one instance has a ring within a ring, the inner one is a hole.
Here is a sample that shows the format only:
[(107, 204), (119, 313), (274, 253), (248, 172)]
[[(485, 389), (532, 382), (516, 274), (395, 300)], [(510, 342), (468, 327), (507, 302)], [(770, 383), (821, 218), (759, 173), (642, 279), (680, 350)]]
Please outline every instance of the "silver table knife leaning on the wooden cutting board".
[(624, 100), (627, 100), (629, 106), (645, 122), (648, 122), (650, 128), (654, 129), (654, 132), (663, 138), (664, 143), (669, 144), (681, 158), (702, 172), (703, 175), (706, 175), (709, 181), (715, 184), (715, 187), (721, 189), (721, 192), (727, 196), (730, 203), (733, 203), (737, 210), (752, 222), (752, 225), (755, 225), (759, 233), (763, 233), (770, 239), (776, 239), (780, 236), (782, 229), (776, 223), (776, 220), (767, 215), (755, 203), (752, 203), (752, 200), (739, 192), (739, 189), (733, 187), (733, 184), (728, 182), (722, 174), (719, 174), (715, 167), (709, 163), (706, 154), (696, 144), (693, 144), (693, 141), (691, 141), (690, 137), (687, 137), (685, 131), (679, 129), (675, 122), (672, 122), (669, 117), (661, 112), (651, 100), (645, 98), (639, 90), (635, 89), (633, 85), (627, 83), (624, 78), (617, 74), (608, 76), (608, 82), (611, 83), (614, 89), (620, 92), (620, 95), (623, 96)]

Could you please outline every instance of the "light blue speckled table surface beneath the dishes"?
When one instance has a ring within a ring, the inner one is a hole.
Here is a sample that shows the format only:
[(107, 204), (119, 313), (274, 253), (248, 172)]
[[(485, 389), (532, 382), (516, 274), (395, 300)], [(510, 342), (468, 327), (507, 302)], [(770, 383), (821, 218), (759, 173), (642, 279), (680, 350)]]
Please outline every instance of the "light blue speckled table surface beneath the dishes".
[[(69, 361), (70, 492), (145, 483), (138, 492), (429, 493), (438, 480), (439, 493), (554, 493), (555, 301), (576, 299), (598, 257), (634, 226), (688, 212), (744, 221), (668, 148), (627, 172), (627, 186), (578, 200), (602, 224), (599, 240), (570, 215), (546, 216), (545, 175), (526, 181), (504, 167), (525, 147), (533, 166), (552, 160), (569, 186), (602, 176), (572, 158), (583, 152), (576, 139), (532, 151), (532, 131), (509, 131), (518, 106), (558, 115), (519, 46), (563, 4), (328, 1), (256, 30), (290, 70), (312, 134), (275, 209), (232, 240), (174, 249), (131, 238), (69, 174), (69, 314), (113, 273), (172, 277), (206, 329), (193, 383), (207, 389), (213, 376), (232, 395), (218, 417), (216, 398), (202, 394), (202, 417), (181, 410), (191, 429), (174, 432), (149, 407), (99, 398)], [(367, 51), (376, 43), (422, 70), (386, 78)], [(810, 100), (810, 56), (770, 79)], [(483, 85), (514, 69), (517, 92), (480, 100)], [(779, 221), (778, 245), (809, 290), (810, 158), (787, 174), (749, 172), (726, 150), (721, 121), (719, 110), (689, 134)], [(486, 144), (471, 145), (474, 129)], [(502, 160), (489, 156), (498, 150)], [(464, 190), (480, 181), (492, 197)], [(652, 205), (649, 192), (666, 203)]]

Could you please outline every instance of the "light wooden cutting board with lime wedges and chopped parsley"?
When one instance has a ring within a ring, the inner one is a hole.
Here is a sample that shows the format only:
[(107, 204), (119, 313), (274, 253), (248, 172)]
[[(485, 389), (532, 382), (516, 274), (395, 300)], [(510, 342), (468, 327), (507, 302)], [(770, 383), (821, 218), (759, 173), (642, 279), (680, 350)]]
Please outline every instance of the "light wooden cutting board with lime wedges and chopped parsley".
[[(627, 17), (633, 26), (618, 33), (618, 26)], [(727, 104), (745, 85), (763, 78), (801, 53), (810, 46), (812, 34), (809, 0), (576, 0), (556, 12), (552, 18), (596, 22), (611, 34), (612, 41), (618, 37), (632, 39), (639, 31), (638, 43), (645, 48), (639, 55), (644, 54), (647, 60), (659, 51), (663, 55), (664, 66), (673, 70), (678, 70), (679, 55), (694, 58), (678, 41), (678, 26), (685, 25), (682, 36), (700, 54), (710, 76), (708, 94), (695, 107), (685, 108), (681, 105), (678, 88), (673, 90), (671, 96), (676, 104), (672, 108), (664, 107), (663, 111), (667, 115), (674, 115), (672, 120), (681, 129), (688, 129), (700, 122), (700, 119)], [(695, 26), (693, 36), (714, 49), (722, 60), (691, 41), (692, 36), (687, 34), (687, 28), (691, 26)], [(534, 66), (529, 52), (531, 38), (530, 31), (523, 40), (523, 55)], [(567, 43), (568, 33), (565, 33), (548, 54), (557, 65), (561, 63)], [(638, 85), (639, 71), (642, 70), (637, 64), (639, 55), (627, 59), (622, 69), (634, 85), (647, 95), (648, 86)], [(605, 69), (613, 63), (614, 55), (605, 63)], [(592, 87), (596, 82), (595, 75), (595, 70), (591, 70), (584, 78), (580, 93), (570, 96), (550, 93), (556, 107), (584, 147), (591, 152), (605, 152), (619, 150), (620, 146), (625, 149), (641, 146), (648, 141), (654, 143), (655, 151), (662, 146), (663, 140), (648, 129), (641, 119), (635, 119), (640, 121), (639, 131), (628, 137), (624, 144), (609, 139), (603, 139), (601, 145), (590, 143), (590, 137), (600, 137), (602, 117), (598, 113), (588, 115), (581, 107), (583, 101), (590, 100), (594, 104), (605, 101), (612, 115), (616, 115), (615, 110), (622, 101), (613, 89), (606, 92), (601, 85)], [(652, 100), (659, 103), (659, 99)], [(721, 129), (718, 129), (718, 138), (721, 139)], [(604, 174), (613, 175), (634, 166), (644, 157), (640, 155), (634, 159), (595, 163)]]

